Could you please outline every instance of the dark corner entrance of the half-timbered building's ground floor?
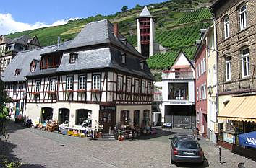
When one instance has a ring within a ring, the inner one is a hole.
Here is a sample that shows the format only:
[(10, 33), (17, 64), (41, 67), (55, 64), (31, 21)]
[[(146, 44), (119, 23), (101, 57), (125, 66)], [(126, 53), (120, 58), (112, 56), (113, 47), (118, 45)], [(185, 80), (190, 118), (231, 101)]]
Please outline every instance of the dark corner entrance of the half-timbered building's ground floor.
[(109, 128), (114, 130), (114, 126), (116, 125), (116, 108), (101, 106), (99, 122), (103, 125), (103, 133), (108, 133)]

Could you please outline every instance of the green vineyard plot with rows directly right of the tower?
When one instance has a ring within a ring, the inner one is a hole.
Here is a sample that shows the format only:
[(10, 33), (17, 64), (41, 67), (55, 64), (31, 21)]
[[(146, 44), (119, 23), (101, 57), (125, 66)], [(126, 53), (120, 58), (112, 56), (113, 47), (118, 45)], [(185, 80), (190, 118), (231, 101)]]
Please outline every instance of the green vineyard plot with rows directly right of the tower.
[(200, 37), (200, 29), (210, 26), (210, 23), (199, 23), (180, 29), (158, 31), (155, 40), (167, 48), (183, 48), (192, 45)]

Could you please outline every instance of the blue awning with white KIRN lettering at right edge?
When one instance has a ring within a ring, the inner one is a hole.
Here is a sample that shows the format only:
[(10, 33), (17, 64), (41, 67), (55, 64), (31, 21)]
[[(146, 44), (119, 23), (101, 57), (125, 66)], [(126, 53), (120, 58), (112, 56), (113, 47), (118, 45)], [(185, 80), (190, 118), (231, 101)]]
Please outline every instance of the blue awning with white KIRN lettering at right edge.
[(239, 144), (256, 148), (256, 131), (238, 135)]

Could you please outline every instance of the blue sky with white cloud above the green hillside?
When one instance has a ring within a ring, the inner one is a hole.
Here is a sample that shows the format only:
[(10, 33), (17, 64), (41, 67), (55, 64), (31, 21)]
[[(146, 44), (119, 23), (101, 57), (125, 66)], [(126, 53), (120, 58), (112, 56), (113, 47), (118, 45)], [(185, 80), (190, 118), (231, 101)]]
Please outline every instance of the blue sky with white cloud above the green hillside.
[[(114, 14), (122, 6), (158, 3), (166, 0), (8, 0), (1, 1), (0, 34), (38, 27), (61, 25), (70, 18)], [(8, 26), (9, 25), (9, 26)]]

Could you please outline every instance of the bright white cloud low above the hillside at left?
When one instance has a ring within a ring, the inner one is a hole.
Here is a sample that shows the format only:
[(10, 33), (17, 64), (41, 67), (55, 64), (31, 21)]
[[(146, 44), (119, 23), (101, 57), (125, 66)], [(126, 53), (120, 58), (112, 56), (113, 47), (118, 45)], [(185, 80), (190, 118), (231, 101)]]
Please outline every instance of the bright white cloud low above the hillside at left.
[(14, 18), (12, 18), (12, 14), (0, 13), (0, 35), (7, 35), (11, 32), (22, 32), (25, 30), (33, 30), (41, 27), (64, 25), (67, 22), (69, 22), (69, 20), (75, 20), (75, 19), (79, 19), (79, 18), (77, 17), (77, 18), (70, 18), (70, 19), (61, 19), (61, 20), (57, 20), (51, 25), (43, 22), (35, 22), (34, 24), (28, 24), (23, 22), (17, 22)]

